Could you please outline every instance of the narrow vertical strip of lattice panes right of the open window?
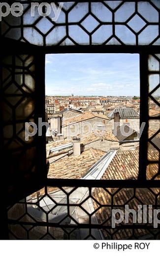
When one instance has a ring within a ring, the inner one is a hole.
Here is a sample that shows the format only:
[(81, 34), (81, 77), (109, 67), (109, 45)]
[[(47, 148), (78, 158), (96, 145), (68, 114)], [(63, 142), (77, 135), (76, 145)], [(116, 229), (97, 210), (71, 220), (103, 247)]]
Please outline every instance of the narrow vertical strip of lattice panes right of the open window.
[[(160, 54), (152, 54), (148, 57), (148, 86), (149, 105), (154, 104), (156, 111), (149, 111), (149, 131), (154, 124), (155, 132), (148, 132), (148, 170), (153, 173), (152, 179), (160, 179)], [(155, 155), (149, 157), (150, 148), (154, 149)], [(157, 153), (157, 156), (156, 156)], [(155, 174), (156, 173), (156, 174)]]

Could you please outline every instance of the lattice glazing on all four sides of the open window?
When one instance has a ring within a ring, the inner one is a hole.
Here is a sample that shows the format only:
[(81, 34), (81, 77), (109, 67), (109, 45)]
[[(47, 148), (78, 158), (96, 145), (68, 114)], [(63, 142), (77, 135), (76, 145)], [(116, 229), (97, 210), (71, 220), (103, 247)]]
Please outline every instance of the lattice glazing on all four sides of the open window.
[[(158, 96), (160, 96), (160, 1), (64, 1), (57, 21), (52, 21), (55, 16), (53, 12), (48, 17), (41, 17), (36, 9), (35, 16), (31, 17), (31, 1), (17, 0), (17, 2), (23, 4), (23, 15), (13, 17), (10, 14), (2, 18), (0, 26), (3, 38), (39, 46), (77, 46), (77, 52), (81, 52), (79, 45), (96, 45), (97, 47), (103, 45), (104, 52), (109, 52), (110, 48), (107, 46), (110, 45), (125, 46), (123, 49), (126, 49), (126, 52), (128, 46), (137, 46), (132, 52), (140, 53), (140, 119), (143, 122), (145, 117), (144, 120), (148, 122), (149, 128), (154, 122), (157, 131), (150, 132), (147, 128), (147, 133), (144, 131), (142, 136), (144, 141), (140, 140), (138, 180), (112, 180), (115, 182), (116, 188), (114, 188), (111, 186), (112, 181), (107, 181), (109, 183), (107, 186), (104, 185), (103, 182), (106, 182), (104, 180), (81, 180), (84, 182), (82, 184), (79, 183), (80, 180), (60, 179), (55, 182), (55, 180), (43, 179), (46, 187), (36, 192), (39, 189), (36, 189), (40, 182), (39, 177), (46, 170), (45, 133), (41, 137), (34, 136), (29, 141), (25, 141), (24, 124), (25, 122), (37, 124), (37, 118), (43, 116), (45, 93), (41, 78), (45, 68), (44, 54), (49, 51), (53, 53), (54, 47), (51, 47), (52, 49), (38, 47), (42, 50), (38, 58), (36, 51), (34, 52), (31, 48), (27, 50), (29, 44), (26, 44), (26, 49), (24, 47), (23, 51), (21, 49), (22, 54), (19, 54), (18, 50), (18, 53), (15, 53), (14, 48), (13, 54), (7, 56), (4, 53), (5, 57), (0, 66), (2, 69), (0, 103), (3, 126), (2, 149), (6, 157), (3, 173), (7, 175), (6, 202), (10, 205), (8, 208), (9, 238), (160, 239), (160, 226), (153, 228), (153, 224), (148, 221), (146, 224), (132, 224), (131, 215), (128, 224), (122, 222), (115, 228), (111, 226), (112, 209), (124, 210), (126, 204), (135, 210), (138, 204), (147, 205), (147, 209), (149, 205), (152, 205), (153, 209), (160, 208), (160, 188), (157, 188), (159, 185), (156, 188), (154, 188), (156, 185), (151, 186), (152, 180), (155, 184), (158, 182), (156, 180), (160, 179), (160, 144), (156, 140), (160, 135), (160, 116), (151, 115), (148, 112), (148, 104), (156, 104), (156, 109), (160, 107), (158, 102)], [(58, 7), (58, 3), (56, 5)], [(139, 46), (149, 46), (151, 55), (147, 51), (141, 52)], [(70, 49), (72, 52), (75, 47)], [(146, 77), (148, 77), (148, 85)], [(143, 151), (142, 144), (146, 141), (148, 149), (145, 145)], [(156, 151), (155, 158), (150, 158), (150, 149)], [(146, 166), (150, 175), (153, 173), (149, 183), (146, 181)], [(25, 197), (22, 193), (24, 180), (27, 185), (24, 190), (28, 197), (21, 201), (17, 199), (16, 204), (10, 203), (15, 202), (16, 198)], [(33, 194), (29, 192), (31, 180), (33, 181), (32, 192), (35, 192)], [(128, 182), (133, 186), (128, 187), (130, 184)], [(58, 188), (55, 187), (55, 183)], [(71, 185), (67, 185), (68, 183)], [(39, 187), (42, 188), (44, 184)], [(147, 185), (146, 188), (141, 189), (139, 184)], [(14, 200), (11, 199), (12, 195), (15, 195)]]

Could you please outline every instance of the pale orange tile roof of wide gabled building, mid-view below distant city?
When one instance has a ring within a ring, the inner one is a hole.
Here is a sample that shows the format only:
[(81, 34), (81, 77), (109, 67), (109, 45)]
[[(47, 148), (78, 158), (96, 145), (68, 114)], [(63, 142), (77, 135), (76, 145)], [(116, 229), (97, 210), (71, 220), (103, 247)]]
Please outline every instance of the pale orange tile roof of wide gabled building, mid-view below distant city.
[(95, 118), (95, 117), (98, 117), (98, 118), (102, 118), (102, 119), (105, 119), (105, 120), (110, 120), (110, 118), (108, 118), (107, 116), (105, 115), (101, 115), (101, 114), (92, 114), (91, 112), (85, 112), (83, 114), (80, 114), (78, 116), (75, 116), (75, 117), (70, 117), (70, 118), (67, 118), (63, 121), (63, 127), (69, 125), (69, 123), (79, 123), (81, 121), (85, 121), (85, 120), (88, 120), (88, 119), (91, 119), (91, 118)]

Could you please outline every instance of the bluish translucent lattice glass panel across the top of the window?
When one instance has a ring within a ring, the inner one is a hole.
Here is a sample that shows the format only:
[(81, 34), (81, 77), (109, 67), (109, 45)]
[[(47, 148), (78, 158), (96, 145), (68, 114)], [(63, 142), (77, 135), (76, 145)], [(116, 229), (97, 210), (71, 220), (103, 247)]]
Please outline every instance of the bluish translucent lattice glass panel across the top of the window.
[[(41, 46), (160, 45), (158, 0), (64, 1), (57, 21), (52, 20), (52, 9), (49, 16), (42, 17), (35, 7), (32, 17), (31, 1), (21, 2), (21, 17), (9, 15), (2, 19), (5, 37)], [(48, 7), (44, 8), (47, 13)]]

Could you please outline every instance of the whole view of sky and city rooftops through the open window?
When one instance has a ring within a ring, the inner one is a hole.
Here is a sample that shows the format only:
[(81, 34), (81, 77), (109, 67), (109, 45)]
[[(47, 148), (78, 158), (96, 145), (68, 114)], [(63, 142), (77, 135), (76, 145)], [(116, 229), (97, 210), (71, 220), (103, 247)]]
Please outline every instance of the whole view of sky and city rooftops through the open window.
[(46, 55), (45, 72), (48, 178), (137, 179), (139, 55)]

